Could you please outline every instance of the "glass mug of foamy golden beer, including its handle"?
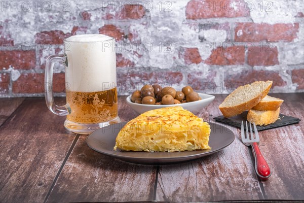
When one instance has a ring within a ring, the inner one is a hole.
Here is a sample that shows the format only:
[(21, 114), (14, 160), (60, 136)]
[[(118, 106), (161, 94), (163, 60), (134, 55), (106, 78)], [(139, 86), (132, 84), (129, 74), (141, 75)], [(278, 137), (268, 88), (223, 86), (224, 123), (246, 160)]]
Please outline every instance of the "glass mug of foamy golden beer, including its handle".
[(64, 127), (90, 134), (120, 122), (116, 83), (115, 39), (105, 35), (77, 35), (64, 40), (64, 54), (46, 61), (45, 83), (52, 87), (54, 63), (65, 66), (66, 105), (54, 103), (45, 88), (46, 103), (54, 114), (66, 116)]

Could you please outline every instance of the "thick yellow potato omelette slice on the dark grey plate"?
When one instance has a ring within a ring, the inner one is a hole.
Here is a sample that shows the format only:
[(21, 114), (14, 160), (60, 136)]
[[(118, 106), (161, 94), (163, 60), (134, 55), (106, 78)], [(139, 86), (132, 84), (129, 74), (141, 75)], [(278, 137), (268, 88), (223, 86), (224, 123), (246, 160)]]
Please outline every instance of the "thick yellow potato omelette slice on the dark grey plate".
[(114, 150), (174, 152), (210, 149), (210, 125), (182, 107), (147, 111), (118, 133)]

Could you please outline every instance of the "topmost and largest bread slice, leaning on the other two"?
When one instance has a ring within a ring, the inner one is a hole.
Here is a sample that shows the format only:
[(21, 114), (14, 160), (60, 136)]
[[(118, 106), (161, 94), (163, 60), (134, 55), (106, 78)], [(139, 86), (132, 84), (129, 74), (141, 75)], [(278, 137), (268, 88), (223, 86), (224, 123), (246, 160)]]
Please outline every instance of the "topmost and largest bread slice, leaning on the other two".
[(219, 110), (224, 117), (232, 117), (251, 109), (268, 94), (272, 83), (273, 81), (256, 81), (238, 87), (219, 105)]

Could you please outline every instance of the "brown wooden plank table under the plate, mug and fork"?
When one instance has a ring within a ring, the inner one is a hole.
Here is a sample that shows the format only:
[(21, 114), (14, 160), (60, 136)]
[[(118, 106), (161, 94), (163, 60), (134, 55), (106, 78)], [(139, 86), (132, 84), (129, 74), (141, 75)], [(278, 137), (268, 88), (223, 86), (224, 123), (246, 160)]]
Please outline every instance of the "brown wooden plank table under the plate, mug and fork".
[[(260, 149), (273, 172), (261, 181), (240, 130), (229, 147), (173, 165), (139, 165), (91, 150), (87, 136), (68, 132), (45, 98), (1, 99), (0, 202), (304, 200), (303, 93), (274, 94), (281, 113), (299, 124), (261, 131)], [(221, 115), (216, 95), (199, 116)], [(136, 117), (119, 97), (123, 121)], [(64, 103), (64, 98), (56, 98)], [(211, 120), (210, 120), (211, 118)]]

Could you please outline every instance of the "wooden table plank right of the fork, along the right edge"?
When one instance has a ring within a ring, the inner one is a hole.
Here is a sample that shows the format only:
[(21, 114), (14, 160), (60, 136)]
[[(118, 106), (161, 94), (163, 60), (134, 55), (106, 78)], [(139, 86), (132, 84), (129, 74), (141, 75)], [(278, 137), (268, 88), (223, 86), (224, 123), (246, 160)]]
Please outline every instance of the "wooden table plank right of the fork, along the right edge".
[(265, 199), (304, 200), (304, 94), (272, 94), (284, 100), (281, 113), (300, 123), (259, 133), (260, 150), (272, 170), (263, 181)]

